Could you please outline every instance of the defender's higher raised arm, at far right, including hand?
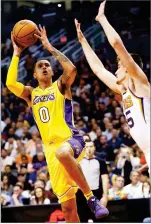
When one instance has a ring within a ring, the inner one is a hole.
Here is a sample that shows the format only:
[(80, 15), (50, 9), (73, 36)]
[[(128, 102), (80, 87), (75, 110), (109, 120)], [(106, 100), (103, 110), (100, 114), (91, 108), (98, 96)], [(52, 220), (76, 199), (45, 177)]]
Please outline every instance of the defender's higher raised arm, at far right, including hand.
[(142, 69), (135, 63), (131, 55), (126, 50), (119, 34), (108, 22), (104, 14), (105, 3), (106, 0), (103, 3), (101, 3), (98, 15), (96, 16), (96, 21), (98, 21), (103, 27), (110, 45), (114, 48), (122, 64), (127, 69), (129, 75), (131, 75), (132, 78), (139, 80), (144, 84), (148, 83), (146, 75), (144, 74)]

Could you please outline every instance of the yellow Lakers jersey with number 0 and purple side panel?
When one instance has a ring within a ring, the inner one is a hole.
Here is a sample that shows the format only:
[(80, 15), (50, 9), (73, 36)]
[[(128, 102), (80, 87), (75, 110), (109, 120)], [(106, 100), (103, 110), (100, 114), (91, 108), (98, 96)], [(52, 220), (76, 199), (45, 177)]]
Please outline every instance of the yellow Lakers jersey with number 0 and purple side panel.
[(45, 145), (79, 133), (73, 122), (72, 100), (60, 93), (57, 81), (46, 89), (35, 88), (31, 96), (33, 116)]

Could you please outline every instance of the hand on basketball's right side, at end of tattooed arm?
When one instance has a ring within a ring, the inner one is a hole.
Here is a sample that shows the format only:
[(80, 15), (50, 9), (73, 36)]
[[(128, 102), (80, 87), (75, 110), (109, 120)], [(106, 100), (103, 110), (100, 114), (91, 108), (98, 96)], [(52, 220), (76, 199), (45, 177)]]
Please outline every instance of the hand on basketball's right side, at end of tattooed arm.
[(39, 30), (37, 31), (38, 34), (34, 34), (39, 40), (41, 40), (44, 48), (47, 48), (48, 46), (51, 46), (51, 44), (49, 43), (48, 37), (47, 37), (47, 32), (45, 27), (39, 25)]

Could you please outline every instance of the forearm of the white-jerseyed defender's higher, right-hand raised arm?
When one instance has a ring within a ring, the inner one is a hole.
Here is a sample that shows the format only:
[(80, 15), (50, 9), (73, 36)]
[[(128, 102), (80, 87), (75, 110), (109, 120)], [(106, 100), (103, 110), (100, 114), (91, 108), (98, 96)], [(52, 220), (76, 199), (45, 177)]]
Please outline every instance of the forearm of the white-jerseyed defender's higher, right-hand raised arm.
[(101, 16), (99, 18), (99, 23), (103, 27), (103, 30), (107, 36), (107, 39), (113, 48), (115, 48), (117, 44), (122, 43), (122, 40), (121, 40), (119, 34), (115, 31), (115, 29), (108, 22), (106, 16)]

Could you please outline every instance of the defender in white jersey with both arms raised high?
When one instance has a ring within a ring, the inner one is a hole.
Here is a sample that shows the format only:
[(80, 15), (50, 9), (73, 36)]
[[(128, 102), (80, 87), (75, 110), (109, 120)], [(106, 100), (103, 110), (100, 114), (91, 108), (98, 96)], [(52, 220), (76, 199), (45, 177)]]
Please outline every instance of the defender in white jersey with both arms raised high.
[(143, 151), (150, 170), (150, 84), (142, 68), (142, 60), (137, 54), (129, 54), (117, 32), (104, 15), (105, 3), (101, 3), (96, 21), (102, 25), (109, 43), (118, 56), (116, 77), (105, 69), (94, 53), (75, 19), (77, 35), (87, 61), (94, 74), (111, 90), (121, 94), (123, 110), (130, 133)]

